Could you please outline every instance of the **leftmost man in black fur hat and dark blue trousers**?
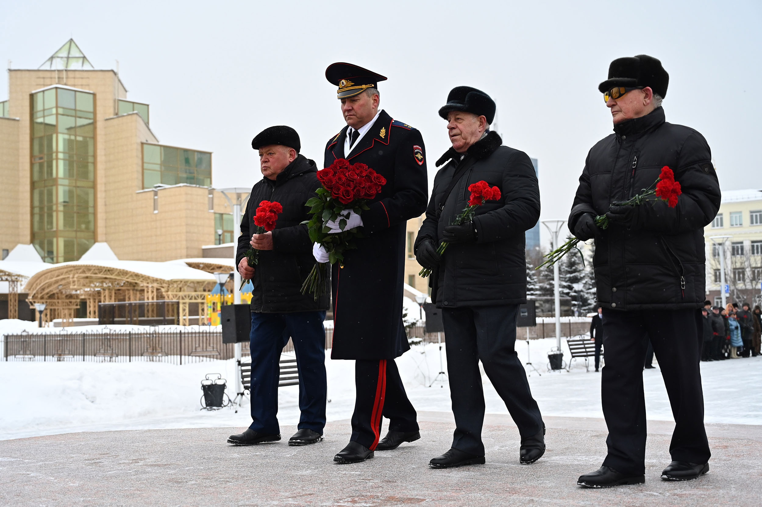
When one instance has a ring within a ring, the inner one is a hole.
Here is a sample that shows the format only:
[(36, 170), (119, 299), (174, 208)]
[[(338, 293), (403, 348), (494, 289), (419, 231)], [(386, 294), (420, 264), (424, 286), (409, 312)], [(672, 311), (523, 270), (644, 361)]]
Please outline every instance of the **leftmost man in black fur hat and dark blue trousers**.
[[(328, 384), (325, 377), (325, 329), (328, 281), (324, 295), (315, 300), (302, 294), (302, 284), (312, 269), (312, 242), (304, 204), (320, 187), (315, 162), (299, 154), (302, 143), (296, 130), (285, 125), (268, 127), (251, 141), (258, 151), (263, 178), (251, 188), (241, 221), (235, 258), (242, 278), (254, 284), (251, 297), (251, 425), (230, 435), (234, 445), (254, 445), (280, 440), (278, 378), (280, 353), (291, 337), (299, 368), (298, 431), (289, 445), (315, 444), (323, 439)], [(255, 233), (255, 210), (262, 201), (283, 206), (275, 229)], [(246, 251), (258, 249), (255, 266)], [(284, 340), (285, 339), (285, 340)]]

